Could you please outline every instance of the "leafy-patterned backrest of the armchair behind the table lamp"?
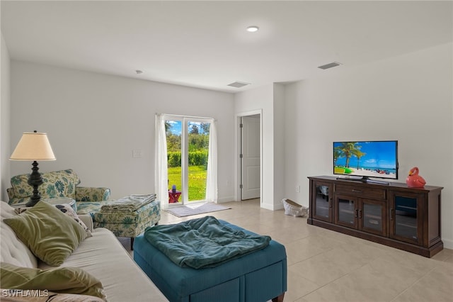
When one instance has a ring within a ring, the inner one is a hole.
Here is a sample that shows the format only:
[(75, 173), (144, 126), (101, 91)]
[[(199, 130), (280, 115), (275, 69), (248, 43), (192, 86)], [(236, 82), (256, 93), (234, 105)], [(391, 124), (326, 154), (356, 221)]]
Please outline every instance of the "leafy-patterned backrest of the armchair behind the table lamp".
[[(11, 186), (15, 198), (26, 198), (33, 195), (33, 186), (28, 184), (30, 174), (11, 177)], [(69, 197), (75, 198), (76, 185), (80, 179), (72, 169), (41, 173), (42, 184), (38, 191), (42, 198)]]

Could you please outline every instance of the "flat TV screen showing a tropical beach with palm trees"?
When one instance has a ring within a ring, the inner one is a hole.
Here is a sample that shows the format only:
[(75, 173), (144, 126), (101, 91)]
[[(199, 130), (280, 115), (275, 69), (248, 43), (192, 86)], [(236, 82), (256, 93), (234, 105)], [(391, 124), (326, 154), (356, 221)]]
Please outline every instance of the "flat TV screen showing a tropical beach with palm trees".
[(398, 179), (398, 141), (333, 142), (333, 174)]

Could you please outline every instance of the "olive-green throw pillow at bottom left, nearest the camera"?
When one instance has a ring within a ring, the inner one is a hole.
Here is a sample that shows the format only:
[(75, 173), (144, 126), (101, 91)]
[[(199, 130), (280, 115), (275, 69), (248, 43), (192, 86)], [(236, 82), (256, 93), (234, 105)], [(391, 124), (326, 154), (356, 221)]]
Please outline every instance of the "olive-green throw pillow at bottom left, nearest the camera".
[(83, 269), (61, 267), (34, 269), (0, 262), (1, 289), (34, 289), (55, 293), (79, 293), (105, 299), (101, 281)]

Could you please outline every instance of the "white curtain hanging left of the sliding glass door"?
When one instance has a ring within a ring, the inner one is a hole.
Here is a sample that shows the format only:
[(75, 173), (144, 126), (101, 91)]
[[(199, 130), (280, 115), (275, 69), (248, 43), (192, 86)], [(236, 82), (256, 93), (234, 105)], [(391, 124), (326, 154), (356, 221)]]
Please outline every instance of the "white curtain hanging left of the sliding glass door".
[(156, 147), (154, 189), (157, 198), (161, 201), (161, 208), (168, 208), (167, 139), (163, 114), (156, 114), (156, 142), (154, 145)]

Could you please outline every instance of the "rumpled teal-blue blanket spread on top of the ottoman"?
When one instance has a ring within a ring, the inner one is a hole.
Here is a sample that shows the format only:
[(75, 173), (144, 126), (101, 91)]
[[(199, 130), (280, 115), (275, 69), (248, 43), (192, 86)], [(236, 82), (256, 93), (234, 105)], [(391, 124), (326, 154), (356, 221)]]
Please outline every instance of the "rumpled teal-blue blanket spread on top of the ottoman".
[(212, 216), (176, 225), (156, 225), (144, 232), (147, 241), (180, 267), (217, 267), (267, 247), (269, 236), (249, 235)]

